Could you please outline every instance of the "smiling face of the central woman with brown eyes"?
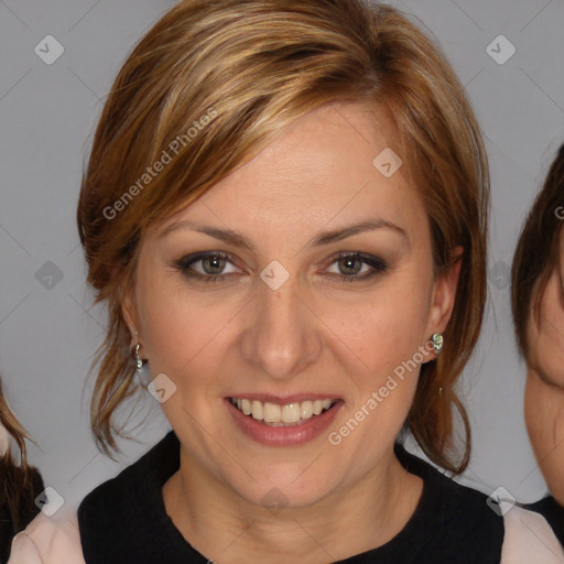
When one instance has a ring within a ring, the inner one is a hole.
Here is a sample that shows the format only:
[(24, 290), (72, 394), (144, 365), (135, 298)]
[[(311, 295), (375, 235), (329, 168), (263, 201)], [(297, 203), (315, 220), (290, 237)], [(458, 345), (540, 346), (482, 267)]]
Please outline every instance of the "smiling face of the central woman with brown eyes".
[(373, 164), (389, 145), (383, 112), (324, 107), (141, 242), (130, 327), (186, 459), (237, 499), (389, 469), (458, 272), (434, 278), (416, 189)]

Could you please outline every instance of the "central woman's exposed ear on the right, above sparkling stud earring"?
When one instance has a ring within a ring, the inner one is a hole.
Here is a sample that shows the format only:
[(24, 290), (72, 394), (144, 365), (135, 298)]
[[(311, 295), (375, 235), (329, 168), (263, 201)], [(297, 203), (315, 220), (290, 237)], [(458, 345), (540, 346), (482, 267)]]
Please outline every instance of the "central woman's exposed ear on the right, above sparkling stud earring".
[(456, 300), (463, 254), (464, 249), (455, 247), (451, 256), (449, 267), (434, 282), (425, 340), (435, 333), (444, 333), (448, 325)]

